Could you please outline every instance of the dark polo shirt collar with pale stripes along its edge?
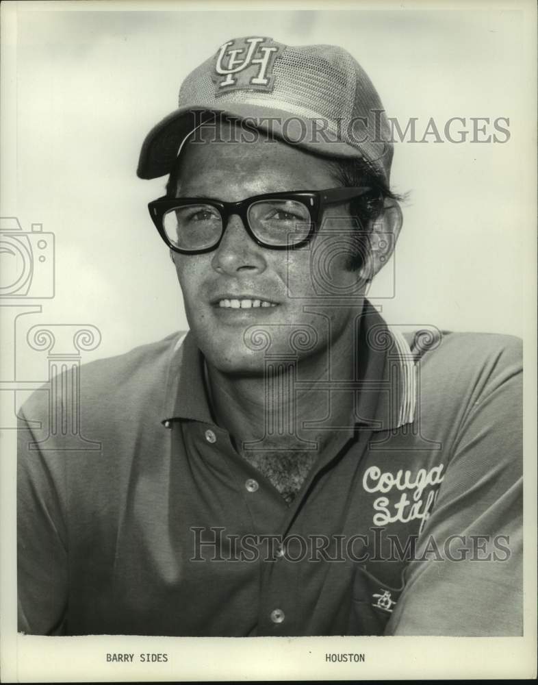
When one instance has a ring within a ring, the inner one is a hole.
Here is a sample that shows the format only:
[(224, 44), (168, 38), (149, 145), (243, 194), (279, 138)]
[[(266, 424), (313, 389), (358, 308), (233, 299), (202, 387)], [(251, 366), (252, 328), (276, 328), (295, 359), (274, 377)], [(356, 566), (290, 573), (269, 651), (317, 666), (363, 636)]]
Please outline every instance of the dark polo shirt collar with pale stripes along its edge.
[[(413, 423), (416, 370), (401, 332), (366, 303), (357, 349), (357, 403), (353, 423), (374, 431)], [(192, 333), (179, 334), (170, 351), (162, 423), (190, 419), (214, 423), (207, 401), (203, 355)]]

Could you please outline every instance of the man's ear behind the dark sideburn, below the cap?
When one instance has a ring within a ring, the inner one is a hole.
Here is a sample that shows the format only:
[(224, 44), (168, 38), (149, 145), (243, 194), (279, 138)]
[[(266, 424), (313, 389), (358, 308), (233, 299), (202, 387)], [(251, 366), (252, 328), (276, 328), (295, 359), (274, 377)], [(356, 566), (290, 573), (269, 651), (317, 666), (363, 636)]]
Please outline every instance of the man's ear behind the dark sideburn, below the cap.
[(361, 277), (371, 281), (389, 261), (396, 240), (400, 235), (403, 215), (400, 205), (390, 197), (385, 198), (383, 213), (370, 225), (368, 241), (364, 254)]

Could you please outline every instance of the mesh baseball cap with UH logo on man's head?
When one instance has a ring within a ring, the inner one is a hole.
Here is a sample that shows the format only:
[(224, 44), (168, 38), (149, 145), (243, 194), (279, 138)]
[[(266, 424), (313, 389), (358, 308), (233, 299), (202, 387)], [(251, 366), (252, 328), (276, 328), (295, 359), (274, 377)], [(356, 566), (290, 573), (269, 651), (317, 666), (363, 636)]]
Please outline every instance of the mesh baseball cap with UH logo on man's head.
[(366, 72), (341, 47), (261, 36), (228, 40), (185, 78), (177, 110), (146, 136), (138, 176), (170, 173), (185, 138), (215, 115), (319, 155), (363, 158), (389, 181), (385, 110)]

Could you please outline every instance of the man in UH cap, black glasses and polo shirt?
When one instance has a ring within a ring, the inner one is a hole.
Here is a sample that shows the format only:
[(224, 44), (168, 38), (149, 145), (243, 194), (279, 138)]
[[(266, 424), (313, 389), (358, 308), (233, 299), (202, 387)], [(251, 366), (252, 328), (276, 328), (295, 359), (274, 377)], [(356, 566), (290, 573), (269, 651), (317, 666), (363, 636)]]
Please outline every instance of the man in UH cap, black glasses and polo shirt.
[(338, 47), (236, 38), (185, 79), (138, 175), (190, 332), (83, 366), (97, 452), (21, 410), (20, 630), (522, 634), (519, 341), (368, 302), (392, 152)]

